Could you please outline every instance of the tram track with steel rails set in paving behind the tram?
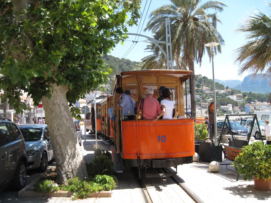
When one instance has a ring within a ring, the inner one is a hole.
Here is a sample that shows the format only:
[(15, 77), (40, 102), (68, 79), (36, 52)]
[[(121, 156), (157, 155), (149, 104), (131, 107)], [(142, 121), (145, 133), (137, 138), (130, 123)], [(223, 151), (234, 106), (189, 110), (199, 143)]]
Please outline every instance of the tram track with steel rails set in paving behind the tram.
[[(156, 169), (159, 172), (170, 171), (171, 168)], [(138, 170), (136, 167), (132, 169), (140, 190), (146, 203), (168, 203), (178, 202), (179, 200), (185, 203), (204, 203), (190, 188), (185, 185), (182, 178), (177, 175), (167, 176), (167, 182), (161, 183), (160, 178), (147, 178), (145, 174), (141, 173), (141, 178), (138, 178)]]

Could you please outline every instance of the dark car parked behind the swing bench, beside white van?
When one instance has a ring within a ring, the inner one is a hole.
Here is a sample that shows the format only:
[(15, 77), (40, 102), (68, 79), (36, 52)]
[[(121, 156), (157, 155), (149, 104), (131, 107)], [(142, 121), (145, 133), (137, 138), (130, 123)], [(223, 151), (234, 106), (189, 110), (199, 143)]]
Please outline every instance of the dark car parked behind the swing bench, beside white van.
[[(231, 130), (233, 132), (233, 135), (242, 135), (246, 136), (248, 135), (248, 129), (242, 126), (240, 123), (237, 122), (230, 122), (231, 124)], [(224, 122), (218, 122), (217, 123), (217, 133), (222, 133)], [(223, 135), (231, 135), (230, 128), (228, 122), (226, 122)]]

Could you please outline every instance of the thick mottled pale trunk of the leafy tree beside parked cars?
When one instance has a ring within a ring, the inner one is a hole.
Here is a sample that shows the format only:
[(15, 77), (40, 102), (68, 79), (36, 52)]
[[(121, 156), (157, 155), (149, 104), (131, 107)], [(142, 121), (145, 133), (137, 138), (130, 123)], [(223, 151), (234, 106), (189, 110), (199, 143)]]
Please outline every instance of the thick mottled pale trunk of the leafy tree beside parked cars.
[(56, 162), (59, 183), (66, 183), (68, 179), (88, 177), (86, 164), (79, 146), (73, 118), (70, 113), (66, 92), (63, 85), (51, 85), (52, 97), (42, 98), (46, 123), (50, 130), (51, 144)]

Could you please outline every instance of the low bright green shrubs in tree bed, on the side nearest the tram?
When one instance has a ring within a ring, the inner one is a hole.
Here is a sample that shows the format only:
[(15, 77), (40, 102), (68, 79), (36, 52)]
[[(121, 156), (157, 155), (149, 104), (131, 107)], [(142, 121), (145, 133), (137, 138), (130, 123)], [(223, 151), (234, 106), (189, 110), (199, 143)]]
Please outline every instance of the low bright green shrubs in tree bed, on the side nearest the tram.
[(72, 199), (75, 200), (89, 198), (92, 192), (109, 191), (116, 188), (116, 181), (113, 177), (107, 175), (98, 175), (84, 180), (76, 177), (68, 180), (67, 185), (62, 185), (63, 191), (72, 191), (74, 195)]

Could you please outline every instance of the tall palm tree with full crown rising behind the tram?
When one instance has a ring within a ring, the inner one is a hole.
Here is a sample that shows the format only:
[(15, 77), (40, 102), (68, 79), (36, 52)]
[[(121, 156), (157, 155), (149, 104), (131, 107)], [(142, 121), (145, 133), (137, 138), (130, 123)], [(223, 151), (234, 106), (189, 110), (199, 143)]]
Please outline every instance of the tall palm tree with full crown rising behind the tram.
[[(200, 0), (171, 0), (170, 4), (154, 10), (150, 15), (150, 21), (145, 29), (152, 31), (158, 40), (166, 39), (165, 18), (170, 18), (172, 58), (175, 61), (183, 60), (189, 70), (193, 71), (191, 76), (191, 94), (193, 116), (196, 115), (196, 94), (194, 62), (201, 64), (205, 53), (204, 44), (219, 42), (216, 51), (221, 52), (224, 40), (217, 30), (217, 12), (222, 12), (225, 4), (218, 1), (207, 1), (200, 4)], [(214, 10), (214, 12), (208, 12)], [(211, 53), (206, 49), (211, 60)], [(196, 118), (196, 117), (195, 117)]]

